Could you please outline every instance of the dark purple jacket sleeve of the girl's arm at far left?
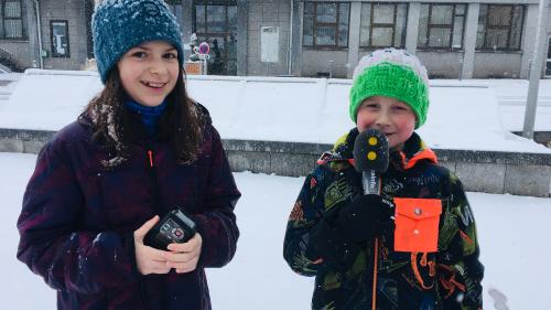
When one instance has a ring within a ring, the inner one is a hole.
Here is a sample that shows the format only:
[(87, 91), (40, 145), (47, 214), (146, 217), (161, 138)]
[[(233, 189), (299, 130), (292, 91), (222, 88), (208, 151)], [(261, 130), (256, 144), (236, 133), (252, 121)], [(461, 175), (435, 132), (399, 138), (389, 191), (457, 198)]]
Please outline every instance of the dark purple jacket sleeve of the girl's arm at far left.
[(56, 290), (94, 293), (136, 281), (131, 235), (82, 229), (84, 196), (61, 145), (37, 157), (18, 220), (18, 259)]

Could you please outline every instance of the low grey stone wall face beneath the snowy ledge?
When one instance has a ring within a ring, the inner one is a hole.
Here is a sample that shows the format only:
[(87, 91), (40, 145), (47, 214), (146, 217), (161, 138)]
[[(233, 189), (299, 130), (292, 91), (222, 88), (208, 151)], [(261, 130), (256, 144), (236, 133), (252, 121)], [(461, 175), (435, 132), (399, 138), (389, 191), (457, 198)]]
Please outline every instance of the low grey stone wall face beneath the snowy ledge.
[[(37, 153), (54, 131), (0, 129), (0, 152)], [(230, 140), (223, 141), (233, 171), (306, 175), (331, 145)], [(455, 172), (465, 190), (548, 197), (551, 154), (434, 149), (440, 163)]]

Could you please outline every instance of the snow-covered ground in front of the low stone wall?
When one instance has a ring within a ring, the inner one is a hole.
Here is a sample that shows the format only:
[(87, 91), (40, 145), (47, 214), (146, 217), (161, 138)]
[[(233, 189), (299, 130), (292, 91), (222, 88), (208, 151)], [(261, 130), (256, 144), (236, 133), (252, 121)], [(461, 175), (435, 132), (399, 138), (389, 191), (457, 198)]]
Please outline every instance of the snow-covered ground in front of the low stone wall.
[[(35, 156), (0, 153), (0, 309), (55, 309), (55, 291), (15, 259), (17, 217)], [(293, 274), (282, 258), (287, 217), (303, 178), (235, 173), (242, 197), (236, 214), (241, 237), (234, 260), (207, 270), (216, 310), (309, 309), (313, 279)], [(468, 193), (478, 225), (485, 309), (547, 310), (551, 303), (551, 199)], [(501, 292), (508, 308), (496, 307)]]

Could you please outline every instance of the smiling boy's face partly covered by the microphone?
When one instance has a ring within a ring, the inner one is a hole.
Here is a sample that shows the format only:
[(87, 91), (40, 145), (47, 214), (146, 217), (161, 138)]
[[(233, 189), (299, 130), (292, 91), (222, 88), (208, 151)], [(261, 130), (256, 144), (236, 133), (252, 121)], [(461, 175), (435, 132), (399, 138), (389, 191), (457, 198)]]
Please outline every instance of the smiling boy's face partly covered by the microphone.
[(415, 129), (415, 114), (395, 98), (374, 96), (359, 106), (356, 127), (360, 132), (366, 129), (381, 131), (390, 149), (401, 150)]

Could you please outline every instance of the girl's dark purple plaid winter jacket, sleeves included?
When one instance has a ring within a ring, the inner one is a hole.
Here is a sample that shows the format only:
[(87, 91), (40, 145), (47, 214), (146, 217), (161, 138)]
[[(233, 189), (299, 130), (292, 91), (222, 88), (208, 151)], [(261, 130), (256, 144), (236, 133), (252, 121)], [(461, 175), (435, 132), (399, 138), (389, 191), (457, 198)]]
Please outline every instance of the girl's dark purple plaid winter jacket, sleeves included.
[[(218, 132), (206, 126), (193, 164), (177, 164), (162, 141), (134, 143), (129, 152), (106, 170), (106, 151), (78, 121), (44, 146), (18, 221), (18, 258), (57, 290), (58, 309), (210, 309), (204, 268), (229, 263), (239, 237), (240, 193)], [(203, 237), (197, 269), (142, 276), (133, 231), (174, 207), (193, 217)]]

